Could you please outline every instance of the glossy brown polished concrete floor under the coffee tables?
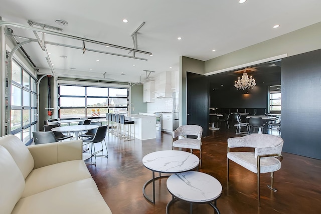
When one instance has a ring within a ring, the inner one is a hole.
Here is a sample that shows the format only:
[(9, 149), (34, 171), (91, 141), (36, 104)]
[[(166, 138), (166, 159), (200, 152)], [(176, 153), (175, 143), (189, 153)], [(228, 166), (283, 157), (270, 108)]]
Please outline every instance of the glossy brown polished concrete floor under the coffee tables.
[[(217, 207), (222, 214), (321, 213), (321, 160), (283, 152), (282, 167), (274, 174), (277, 192), (266, 187), (270, 182), (269, 173), (261, 175), (261, 207), (257, 206), (255, 173), (230, 162), (230, 179), (227, 181), (227, 138), (239, 136), (235, 134), (235, 127), (221, 127), (221, 130), (210, 131), (210, 136), (202, 138), (203, 166), (199, 171), (221, 182), (223, 190)], [(152, 173), (141, 160), (150, 152), (172, 149), (171, 135), (158, 132), (156, 139), (125, 142), (108, 135), (106, 140), (108, 158), (98, 157), (96, 166), (87, 166), (112, 212), (166, 213), (166, 205), (172, 199), (166, 179), (155, 183), (155, 205), (148, 202), (143, 197), (142, 186)], [(199, 156), (199, 151), (193, 153)], [(151, 185), (146, 192), (152, 197)], [(188, 203), (178, 201), (170, 207), (170, 213), (189, 213), (189, 207)], [(197, 204), (193, 213), (214, 213), (214, 210), (208, 204)]]

